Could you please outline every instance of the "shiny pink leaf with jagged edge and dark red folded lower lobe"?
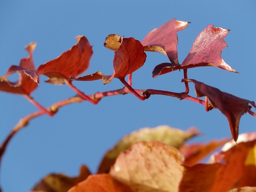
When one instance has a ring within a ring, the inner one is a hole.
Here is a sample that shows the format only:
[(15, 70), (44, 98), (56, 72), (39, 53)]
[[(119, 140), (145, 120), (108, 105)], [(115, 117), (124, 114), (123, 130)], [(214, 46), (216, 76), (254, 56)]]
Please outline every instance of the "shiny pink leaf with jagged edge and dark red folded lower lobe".
[(192, 48), (182, 62), (179, 64), (162, 63), (153, 70), (153, 77), (180, 69), (188, 69), (199, 66), (214, 66), (223, 70), (236, 72), (221, 58), (222, 50), (227, 46), (223, 40), (229, 30), (207, 26), (194, 41)]

